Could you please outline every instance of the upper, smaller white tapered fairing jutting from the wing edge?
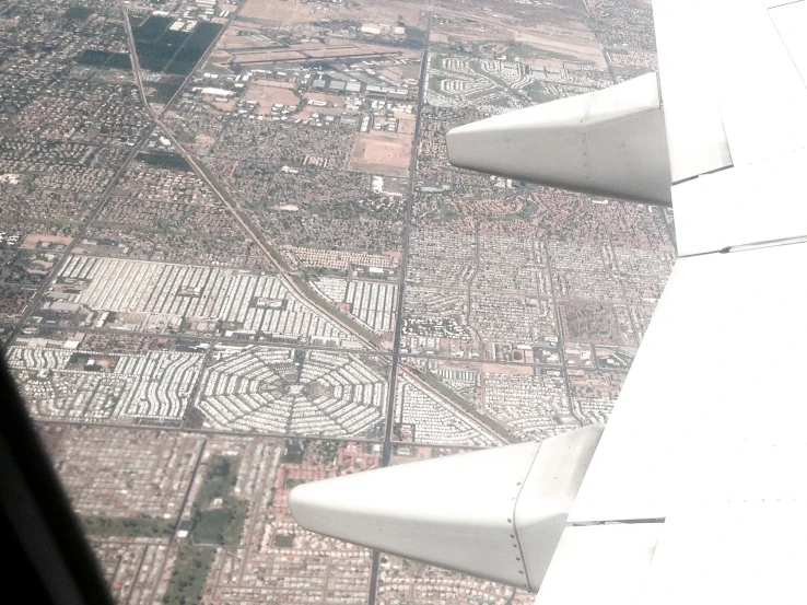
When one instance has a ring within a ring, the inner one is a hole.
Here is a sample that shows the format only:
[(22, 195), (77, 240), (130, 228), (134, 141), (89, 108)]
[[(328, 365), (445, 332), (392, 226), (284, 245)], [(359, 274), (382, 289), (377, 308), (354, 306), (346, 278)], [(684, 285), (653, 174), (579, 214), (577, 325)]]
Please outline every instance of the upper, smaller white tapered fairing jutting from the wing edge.
[(455, 166), (599, 196), (670, 206), (670, 164), (655, 73), (459, 126)]

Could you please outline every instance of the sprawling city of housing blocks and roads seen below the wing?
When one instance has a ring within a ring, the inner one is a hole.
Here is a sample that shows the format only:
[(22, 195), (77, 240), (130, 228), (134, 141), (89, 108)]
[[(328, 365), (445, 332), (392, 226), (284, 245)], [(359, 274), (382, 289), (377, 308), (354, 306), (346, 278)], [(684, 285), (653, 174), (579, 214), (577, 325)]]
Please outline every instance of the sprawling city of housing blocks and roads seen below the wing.
[(0, 0), (0, 344), (118, 602), (531, 603), (288, 495), (608, 418), (671, 211), (445, 133), (656, 68), (650, 0)]

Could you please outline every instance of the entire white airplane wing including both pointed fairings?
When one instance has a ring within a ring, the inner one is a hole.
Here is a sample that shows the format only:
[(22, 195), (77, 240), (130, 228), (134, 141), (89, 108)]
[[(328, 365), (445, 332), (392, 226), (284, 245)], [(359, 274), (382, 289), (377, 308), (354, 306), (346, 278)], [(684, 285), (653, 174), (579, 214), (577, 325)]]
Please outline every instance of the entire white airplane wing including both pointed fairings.
[(807, 0), (654, 14), (658, 75), (448, 133), (460, 167), (672, 205), (679, 259), (601, 438), (301, 486), (303, 526), (537, 605), (804, 602)]

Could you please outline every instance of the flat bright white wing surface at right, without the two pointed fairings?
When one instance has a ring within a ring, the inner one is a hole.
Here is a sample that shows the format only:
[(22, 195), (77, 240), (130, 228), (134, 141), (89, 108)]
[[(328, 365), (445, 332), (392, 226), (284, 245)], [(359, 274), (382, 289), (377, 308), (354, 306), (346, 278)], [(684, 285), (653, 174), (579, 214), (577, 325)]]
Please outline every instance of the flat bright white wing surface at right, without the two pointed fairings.
[[(600, 603), (798, 603), (807, 2), (656, 0), (654, 13), (679, 259), (570, 514), (574, 547), (536, 603), (578, 602), (569, 570), (594, 573), (584, 552), (603, 549), (603, 524), (658, 534), (628, 554), (613, 538), (622, 580)], [(695, 160), (676, 164), (685, 149)]]

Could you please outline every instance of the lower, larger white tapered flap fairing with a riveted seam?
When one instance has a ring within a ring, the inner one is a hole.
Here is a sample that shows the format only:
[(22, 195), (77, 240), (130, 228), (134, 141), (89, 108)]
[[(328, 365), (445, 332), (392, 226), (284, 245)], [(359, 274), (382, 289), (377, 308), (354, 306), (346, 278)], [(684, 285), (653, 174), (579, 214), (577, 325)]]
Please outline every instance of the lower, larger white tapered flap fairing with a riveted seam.
[(312, 532), (537, 590), (603, 429), (305, 484), (289, 504)]

